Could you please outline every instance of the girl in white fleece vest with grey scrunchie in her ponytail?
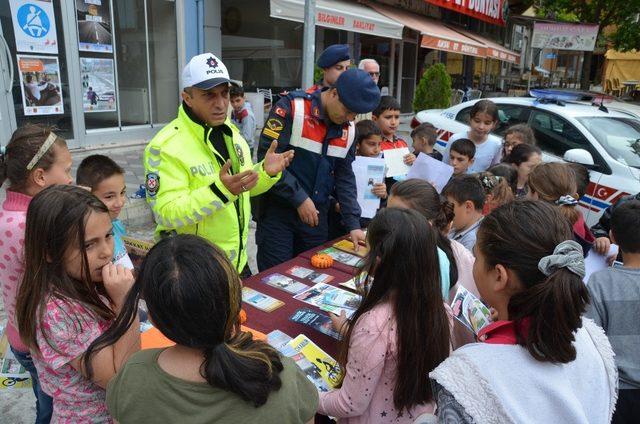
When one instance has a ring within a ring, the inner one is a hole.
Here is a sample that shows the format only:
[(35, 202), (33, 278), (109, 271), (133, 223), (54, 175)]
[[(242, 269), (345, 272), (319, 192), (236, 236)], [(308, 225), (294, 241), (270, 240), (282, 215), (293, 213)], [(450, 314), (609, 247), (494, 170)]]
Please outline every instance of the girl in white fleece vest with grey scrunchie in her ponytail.
[(581, 318), (589, 293), (570, 239), (571, 227), (544, 202), (511, 202), (482, 221), (473, 275), (497, 319), (430, 374), (440, 417), (610, 422), (613, 351), (602, 329)]

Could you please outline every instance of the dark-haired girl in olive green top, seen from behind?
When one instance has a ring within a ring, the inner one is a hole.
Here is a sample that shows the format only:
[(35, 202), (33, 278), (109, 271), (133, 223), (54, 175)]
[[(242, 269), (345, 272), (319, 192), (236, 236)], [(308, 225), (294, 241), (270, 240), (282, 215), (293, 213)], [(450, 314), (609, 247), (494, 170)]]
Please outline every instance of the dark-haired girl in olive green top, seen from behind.
[[(133, 355), (107, 388), (121, 423), (293, 423), (313, 419), (315, 386), (289, 358), (240, 330), (240, 278), (223, 251), (193, 235), (161, 240), (145, 258), (124, 322), (144, 298), (175, 346)], [(122, 329), (114, 328), (116, 338)], [(149, 388), (153, 388), (149, 390)], [(155, 418), (155, 419), (154, 419)]]

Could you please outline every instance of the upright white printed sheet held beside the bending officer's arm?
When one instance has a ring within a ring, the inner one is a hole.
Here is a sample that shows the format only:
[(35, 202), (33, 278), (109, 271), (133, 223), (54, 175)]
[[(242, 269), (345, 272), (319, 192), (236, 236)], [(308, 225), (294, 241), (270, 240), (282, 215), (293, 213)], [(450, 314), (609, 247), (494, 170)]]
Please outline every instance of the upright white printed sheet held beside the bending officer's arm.
[(385, 160), (356, 156), (351, 166), (356, 176), (358, 204), (362, 210), (360, 216), (373, 218), (380, 207), (380, 198), (373, 194), (371, 189), (376, 183), (384, 183)]

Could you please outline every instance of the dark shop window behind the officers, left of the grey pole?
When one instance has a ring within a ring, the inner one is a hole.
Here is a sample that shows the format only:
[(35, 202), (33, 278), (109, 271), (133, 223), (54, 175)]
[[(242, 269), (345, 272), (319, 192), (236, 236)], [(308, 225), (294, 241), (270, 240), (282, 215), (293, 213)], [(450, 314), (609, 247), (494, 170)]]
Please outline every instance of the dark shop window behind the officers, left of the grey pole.
[(222, 0), (222, 59), (245, 90), (298, 88), (303, 24), (269, 17), (269, 2)]

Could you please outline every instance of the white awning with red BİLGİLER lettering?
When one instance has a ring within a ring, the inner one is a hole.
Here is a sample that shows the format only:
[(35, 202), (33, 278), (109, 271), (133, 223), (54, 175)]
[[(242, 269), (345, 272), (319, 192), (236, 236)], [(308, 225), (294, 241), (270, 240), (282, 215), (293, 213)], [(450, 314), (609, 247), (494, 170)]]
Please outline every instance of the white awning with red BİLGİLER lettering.
[[(271, 0), (272, 18), (304, 22), (304, 0)], [(316, 2), (316, 25), (377, 35), (386, 38), (402, 38), (402, 24), (357, 3), (338, 0)]]

